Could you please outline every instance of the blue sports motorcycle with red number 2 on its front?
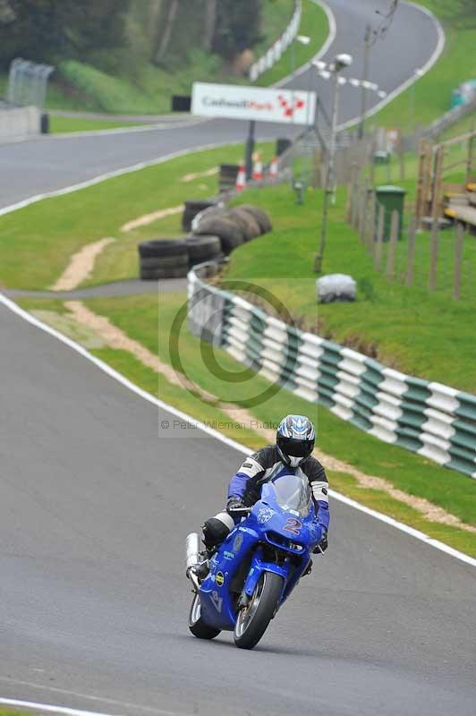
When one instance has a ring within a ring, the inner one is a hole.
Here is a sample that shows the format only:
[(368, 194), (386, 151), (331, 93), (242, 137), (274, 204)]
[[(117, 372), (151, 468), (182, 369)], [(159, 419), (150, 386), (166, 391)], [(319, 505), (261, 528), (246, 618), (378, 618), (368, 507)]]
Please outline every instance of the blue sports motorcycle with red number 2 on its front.
[(322, 531), (308, 479), (297, 472), (266, 482), (253, 507), (230, 510), (242, 521), (209, 558), (203, 579), (207, 563), (199, 535), (187, 537), (192, 635), (213, 639), (233, 631), (236, 646), (252, 649), (310, 567)]

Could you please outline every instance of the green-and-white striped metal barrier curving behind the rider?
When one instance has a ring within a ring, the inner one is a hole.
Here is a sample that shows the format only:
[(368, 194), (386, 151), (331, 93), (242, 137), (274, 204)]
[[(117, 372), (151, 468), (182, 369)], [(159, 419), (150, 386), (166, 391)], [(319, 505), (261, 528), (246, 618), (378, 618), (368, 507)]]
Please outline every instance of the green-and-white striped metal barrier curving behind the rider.
[(376, 438), (476, 478), (476, 396), (287, 326), (209, 286), (203, 278), (213, 271), (201, 264), (188, 277), (194, 335)]

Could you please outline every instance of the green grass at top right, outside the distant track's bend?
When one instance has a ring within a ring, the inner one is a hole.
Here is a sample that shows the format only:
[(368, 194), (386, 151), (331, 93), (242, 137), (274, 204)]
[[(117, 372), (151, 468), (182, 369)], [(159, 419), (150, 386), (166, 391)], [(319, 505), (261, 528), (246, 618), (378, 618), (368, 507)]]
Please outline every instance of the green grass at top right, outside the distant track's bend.
[(424, 0), (421, 4), (443, 24), (446, 43), (442, 55), (413, 87), (370, 120), (379, 125), (400, 126), (406, 133), (444, 115), (450, 108), (452, 91), (474, 77), (474, 63), (470, 58), (476, 46), (476, 22), (470, 4), (457, 0)]

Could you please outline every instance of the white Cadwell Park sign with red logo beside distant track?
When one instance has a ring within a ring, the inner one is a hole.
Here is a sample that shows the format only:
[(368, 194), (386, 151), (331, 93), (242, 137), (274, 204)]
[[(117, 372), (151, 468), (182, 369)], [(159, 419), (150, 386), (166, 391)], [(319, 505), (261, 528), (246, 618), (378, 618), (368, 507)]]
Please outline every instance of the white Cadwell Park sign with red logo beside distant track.
[(316, 93), (194, 82), (191, 114), (280, 124), (312, 124)]

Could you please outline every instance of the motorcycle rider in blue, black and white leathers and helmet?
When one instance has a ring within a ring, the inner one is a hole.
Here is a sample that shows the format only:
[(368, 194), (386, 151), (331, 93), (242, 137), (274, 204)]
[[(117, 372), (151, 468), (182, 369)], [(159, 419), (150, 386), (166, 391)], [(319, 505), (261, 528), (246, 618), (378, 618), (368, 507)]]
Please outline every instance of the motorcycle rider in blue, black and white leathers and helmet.
[[(318, 549), (327, 550), (327, 529), (329, 526), (328, 482), (326, 472), (315, 457), (316, 432), (314, 425), (304, 415), (286, 415), (276, 431), (276, 444), (262, 447), (247, 457), (228, 486), (226, 511), (219, 512), (203, 525), (203, 541), (208, 553), (216, 550), (234, 529), (235, 520), (228, 510), (236, 507), (251, 507), (260, 498), (261, 486), (279, 474), (296, 473), (302, 470), (312, 490), (317, 509), (317, 522), (322, 530)], [(238, 522), (240, 518), (236, 519)]]

